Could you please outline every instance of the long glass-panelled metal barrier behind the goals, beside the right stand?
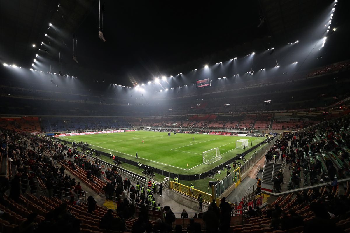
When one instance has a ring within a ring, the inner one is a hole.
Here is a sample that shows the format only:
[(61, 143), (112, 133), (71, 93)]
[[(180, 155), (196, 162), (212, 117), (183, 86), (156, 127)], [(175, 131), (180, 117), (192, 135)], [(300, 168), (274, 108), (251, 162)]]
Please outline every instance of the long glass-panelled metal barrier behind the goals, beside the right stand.
[(248, 171), (248, 169), (254, 166), (255, 163), (257, 163), (262, 158), (262, 156), (265, 156), (269, 148), (271, 148), (275, 144), (276, 140), (280, 138), (281, 135), (278, 135), (274, 139), (266, 143), (258, 151), (255, 151), (252, 157), (245, 161), (245, 163), (243, 163), (243, 165), (239, 167), (240, 170), (236, 171), (238, 169), (237, 168), (236, 170), (231, 172), (231, 174), (226, 176), (223, 180), (214, 185), (213, 196), (215, 196), (215, 198), (221, 196), (233, 184), (235, 184), (237, 187), (237, 185), (239, 185), (241, 182), (241, 177)]

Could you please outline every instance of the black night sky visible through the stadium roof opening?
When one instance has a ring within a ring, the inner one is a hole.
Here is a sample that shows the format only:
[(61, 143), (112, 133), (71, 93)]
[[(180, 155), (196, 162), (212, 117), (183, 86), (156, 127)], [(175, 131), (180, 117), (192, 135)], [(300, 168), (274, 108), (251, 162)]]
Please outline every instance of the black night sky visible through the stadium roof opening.
[(98, 37), (98, 18), (97, 4), (76, 31), (79, 64), (64, 61), (62, 70), (123, 85), (169, 77), (173, 67), (267, 34), (266, 26), (257, 28), (257, 0), (105, 1), (106, 42)]

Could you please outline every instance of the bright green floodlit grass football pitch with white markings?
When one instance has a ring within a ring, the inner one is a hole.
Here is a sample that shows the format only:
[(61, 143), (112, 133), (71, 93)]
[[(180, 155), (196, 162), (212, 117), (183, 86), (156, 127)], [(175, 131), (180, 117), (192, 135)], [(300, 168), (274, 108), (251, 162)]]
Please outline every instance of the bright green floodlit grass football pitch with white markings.
[[(236, 140), (248, 139), (248, 147), (251, 147), (265, 139), (212, 134), (177, 133), (174, 135), (171, 133), (171, 136), (167, 134), (168, 132), (131, 131), (109, 133), (108, 136), (107, 133), (103, 133), (59, 138), (76, 143), (83, 141), (95, 150), (112, 152), (121, 158), (140, 161), (143, 166), (148, 165), (187, 175), (206, 172), (233, 158), (236, 154), (244, 152), (244, 149), (235, 148)], [(203, 163), (203, 152), (216, 147), (219, 148), (222, 159), (211, 164)], [(136, 159), (136, 153), (138, 153), (138, 159)], [(101, 156), (101, 159), (111, 162), (109, 156)]]

